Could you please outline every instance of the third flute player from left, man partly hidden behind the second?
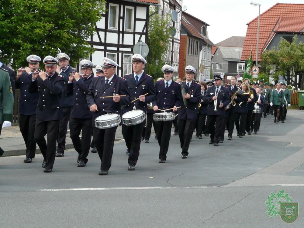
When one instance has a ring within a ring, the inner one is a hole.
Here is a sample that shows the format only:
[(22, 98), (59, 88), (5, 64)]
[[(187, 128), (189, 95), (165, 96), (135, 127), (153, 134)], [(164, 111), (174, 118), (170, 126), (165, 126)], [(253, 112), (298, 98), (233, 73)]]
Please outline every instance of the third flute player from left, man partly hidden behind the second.
[(69, 66), (70, 57), (65, 53), (59, 53), (57, 55), (57, 60), (59, 61), (59, 67), (57, 67), (56, 72), (63, 76), (64, 87), (61, 92), (61, 106), (63, 112), (63, 118), (59, 121), (59, 132), (57, 139), (57, 153), (56, 157), (63, 157), (65, 150), (65, 138), (67, 136), (67, 123), (70, 120), (71, 108), (73, 103), (73, 96), (69, 96), (66, 93), (66, 84), (69, 81), (69, 75), (76, 69)]

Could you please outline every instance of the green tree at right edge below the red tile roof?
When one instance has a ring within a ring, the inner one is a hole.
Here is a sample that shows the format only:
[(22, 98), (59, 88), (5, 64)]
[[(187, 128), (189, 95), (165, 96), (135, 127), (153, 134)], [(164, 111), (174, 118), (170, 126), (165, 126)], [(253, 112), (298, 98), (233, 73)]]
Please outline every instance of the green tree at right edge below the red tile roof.
[[(282, 38), (278, 47), (266, 50), (261, 55), (263, 59), (261, 64), (266, 67), (268, 72), (271, 72), (275, 81), (278, 81), (279, 76), (282, 76), (288, 85), (303, 89), (304, 45), (302, 41), (297, 42), (297, 40), (296, 35), (293, 37), (292, 43)], [(299, 85), (297, 84), (297, 75), (299, 75)]]

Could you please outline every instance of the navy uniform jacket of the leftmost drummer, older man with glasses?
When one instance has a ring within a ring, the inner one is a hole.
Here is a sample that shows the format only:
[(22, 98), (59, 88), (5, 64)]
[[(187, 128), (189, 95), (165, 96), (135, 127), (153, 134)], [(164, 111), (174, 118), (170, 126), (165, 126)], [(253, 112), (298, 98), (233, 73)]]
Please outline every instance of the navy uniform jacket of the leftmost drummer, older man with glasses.
[[(120, 97), (120, 102), (114, 102), (113, 98), (100, 98), (104, 96), (113, 96), (113, 93), (126, 95)], [(105, 76), (96, 76), (93, 78), (87, 94), (88, 108), (96, 104), (98, 111), (93, 113), (93, 126), (96, 117), (109, 113), (117, 113), (120, 116), (121, 105), (129, 105), (131, 102), (130, 93), (126, 79), (120, 78), (116, 74), (109, 85), (105, 87)]]

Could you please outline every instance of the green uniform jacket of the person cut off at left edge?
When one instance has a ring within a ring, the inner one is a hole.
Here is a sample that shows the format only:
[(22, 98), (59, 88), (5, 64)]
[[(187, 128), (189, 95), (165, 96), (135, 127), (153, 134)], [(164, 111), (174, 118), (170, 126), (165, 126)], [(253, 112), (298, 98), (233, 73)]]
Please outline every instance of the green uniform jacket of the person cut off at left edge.
[(0, 68), (0, 123), (13, 121), (14, 97), (9, 73)]

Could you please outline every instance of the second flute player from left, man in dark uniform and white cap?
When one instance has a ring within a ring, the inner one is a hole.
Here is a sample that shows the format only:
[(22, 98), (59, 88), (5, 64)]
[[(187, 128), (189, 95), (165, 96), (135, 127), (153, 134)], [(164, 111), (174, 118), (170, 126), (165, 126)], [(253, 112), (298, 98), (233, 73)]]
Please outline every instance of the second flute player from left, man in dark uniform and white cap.
[[(39, 75), (33, 72), (30, 93), (39, 91), (39, 101), (36, 112), (35, 139), (43, 155), (42, 167), (45, 173), (53, 170), (56, 152), (56, 140), (59, 130), (59, 120), (62, 119), (61, 91), (64, 86), (63, 76), (57, 74), (58, 60), (52, 56), (43, 59), (46, 72)], [(44, 136), (47, 134), (47, 143)]]

